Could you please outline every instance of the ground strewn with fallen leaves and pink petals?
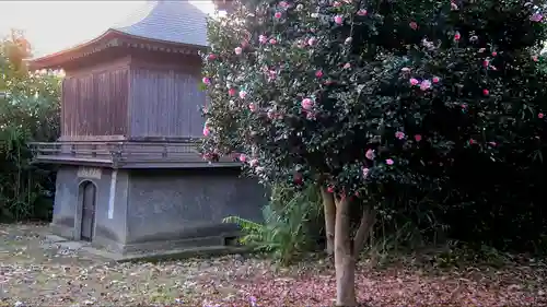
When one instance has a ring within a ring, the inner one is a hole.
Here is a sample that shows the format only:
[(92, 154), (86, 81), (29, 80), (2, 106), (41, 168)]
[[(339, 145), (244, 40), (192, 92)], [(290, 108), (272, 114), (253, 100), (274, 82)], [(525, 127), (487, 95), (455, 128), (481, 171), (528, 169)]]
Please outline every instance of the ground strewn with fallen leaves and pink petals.
[[(232, 255), (117, 263), (48, 243), (47, 233), (46, 225), (0, 225), (0, 306), (334, 304), (330, 261), (310, 259), (283, 268)], [(547, 265), (516, 260), (501, 268), (450, 269), (410, 259), (386, 267), (362, 261), (358, 297), (363, 306), (547, 306)]]

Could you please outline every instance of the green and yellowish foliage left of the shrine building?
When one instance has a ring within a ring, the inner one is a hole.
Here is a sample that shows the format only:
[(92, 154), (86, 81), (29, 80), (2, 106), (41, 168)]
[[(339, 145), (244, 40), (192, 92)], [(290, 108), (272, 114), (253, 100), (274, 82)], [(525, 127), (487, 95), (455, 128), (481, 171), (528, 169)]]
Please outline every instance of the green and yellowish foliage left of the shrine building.
[(0, 42), (0, 219), (49, 219), (55, 178), (32, 165), (31, 141), (55, 141), (59, 129), (56, 75), (30, 73), (30, 44), (21, 33)]

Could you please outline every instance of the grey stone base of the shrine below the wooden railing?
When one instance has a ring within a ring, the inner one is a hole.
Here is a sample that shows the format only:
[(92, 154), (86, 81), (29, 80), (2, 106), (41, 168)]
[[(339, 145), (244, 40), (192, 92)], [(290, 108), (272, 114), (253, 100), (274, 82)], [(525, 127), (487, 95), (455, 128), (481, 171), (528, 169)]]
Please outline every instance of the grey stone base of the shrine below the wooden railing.
[(237, 169), (83, 170), (59, 169), (53, 232), (81, 239), (82, 225), (90, 225), (82, 223), (81, 187), (91, 181), (96, 191), (93, 229), (86, 232), (91, 246), (123, 258), (226, 249), (240, 229), (222, 220), (236, 215), (260, 222), (267, 203), (263, 186), (240, 178)]

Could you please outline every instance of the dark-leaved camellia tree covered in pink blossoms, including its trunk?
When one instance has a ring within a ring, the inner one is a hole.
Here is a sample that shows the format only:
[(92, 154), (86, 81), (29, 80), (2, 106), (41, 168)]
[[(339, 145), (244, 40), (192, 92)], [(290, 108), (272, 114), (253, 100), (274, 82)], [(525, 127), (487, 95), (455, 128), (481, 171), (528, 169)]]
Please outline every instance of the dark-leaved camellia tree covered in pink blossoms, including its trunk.
[[(543, 4), (248, 0), (209, 21), (203, 156), (323, 187), (338, 306), (383, 197), (544, 129)], [(527, 133), (527, 132), (526, 132)], [(333, 240), (334, 239), (334, 240)]]

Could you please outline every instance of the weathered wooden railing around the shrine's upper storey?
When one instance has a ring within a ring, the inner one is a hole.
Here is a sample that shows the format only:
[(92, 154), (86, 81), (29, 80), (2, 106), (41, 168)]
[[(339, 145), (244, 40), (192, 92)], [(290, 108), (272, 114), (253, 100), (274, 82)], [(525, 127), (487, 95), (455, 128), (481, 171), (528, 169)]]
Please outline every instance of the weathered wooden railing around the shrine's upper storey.
[[(115, 166), (146, 164), (207, 164), (197, 142), (55, 142), (32, 143), (35, 161), (46, 163), (92, 163)], [(219, 163), (233, 163), (223, 157)]]

